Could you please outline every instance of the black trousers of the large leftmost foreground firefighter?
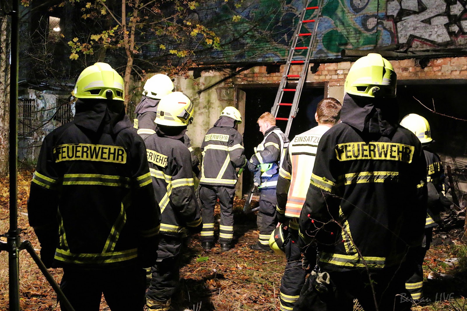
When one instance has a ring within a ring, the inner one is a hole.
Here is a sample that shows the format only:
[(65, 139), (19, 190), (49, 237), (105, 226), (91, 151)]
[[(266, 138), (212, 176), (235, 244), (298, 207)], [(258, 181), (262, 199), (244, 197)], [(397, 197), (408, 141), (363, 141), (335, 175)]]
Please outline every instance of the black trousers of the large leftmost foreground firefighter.
[(64, 268), (60, 288), (75, 311), (99, 311), (102, 294), (112, 311), (143, 310), (145, 270)]

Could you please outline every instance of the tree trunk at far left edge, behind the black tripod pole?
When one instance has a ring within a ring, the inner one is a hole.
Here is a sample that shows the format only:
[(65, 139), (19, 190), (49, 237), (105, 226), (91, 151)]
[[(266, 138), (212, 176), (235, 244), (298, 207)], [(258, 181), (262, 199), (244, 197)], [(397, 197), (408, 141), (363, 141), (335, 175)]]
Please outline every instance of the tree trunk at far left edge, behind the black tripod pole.
[(10, 20), (0, 17), (0, 175), (8, 174), (8, 130), (10, 127)]

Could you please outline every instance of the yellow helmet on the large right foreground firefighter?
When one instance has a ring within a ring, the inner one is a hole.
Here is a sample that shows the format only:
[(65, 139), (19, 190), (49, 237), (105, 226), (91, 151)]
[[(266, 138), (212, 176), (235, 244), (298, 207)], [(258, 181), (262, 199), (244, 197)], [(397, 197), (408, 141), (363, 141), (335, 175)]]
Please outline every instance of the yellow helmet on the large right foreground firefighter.
[(380, 54), (369, 53), (350, 68), (344, 91), (366, 97), (396, 97), (396, 83), (391, 63)]

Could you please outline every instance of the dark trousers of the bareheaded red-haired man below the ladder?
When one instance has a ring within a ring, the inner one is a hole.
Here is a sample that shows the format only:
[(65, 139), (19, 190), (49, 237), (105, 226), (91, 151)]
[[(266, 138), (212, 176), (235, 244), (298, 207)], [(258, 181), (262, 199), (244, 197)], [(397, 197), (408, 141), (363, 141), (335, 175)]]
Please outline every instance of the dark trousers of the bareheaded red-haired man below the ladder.
[(269, 237), (276, 229), (276, 189), (265, 189), (260, 193), (260, 209), (256, 216), (256, 225), (260, 231), (258, 244), (269, 249)]

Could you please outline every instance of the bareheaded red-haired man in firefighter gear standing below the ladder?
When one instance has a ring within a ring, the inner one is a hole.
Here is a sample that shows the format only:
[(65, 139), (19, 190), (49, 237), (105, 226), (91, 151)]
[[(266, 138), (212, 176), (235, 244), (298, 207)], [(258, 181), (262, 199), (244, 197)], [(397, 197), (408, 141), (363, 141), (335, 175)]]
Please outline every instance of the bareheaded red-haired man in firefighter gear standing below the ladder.
[(255, 154), (250, 158), (248, 170), (261, 174), (260, 209), (256, 224), (260, 231), (258, 242), (251, 246), (254, 250), (272, 251), (269, 247), (269, 237), (276, 228), (276, 186), (279, 177), (279, 167), (289, 146), (289, 139), (276, 127), (276, 119), (269, 112), (258, 118), (260, 132), (264, 139), (255, 148)]

